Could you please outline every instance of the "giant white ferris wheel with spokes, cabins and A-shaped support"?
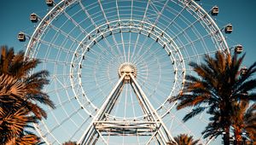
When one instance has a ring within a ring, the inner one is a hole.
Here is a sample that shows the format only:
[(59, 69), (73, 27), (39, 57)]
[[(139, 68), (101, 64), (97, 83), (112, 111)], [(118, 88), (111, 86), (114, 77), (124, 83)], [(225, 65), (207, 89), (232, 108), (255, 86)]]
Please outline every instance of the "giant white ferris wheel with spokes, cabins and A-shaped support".
[(184, 123), (187, 110), (169, 102), (192, 74), (190, 61), (228, 49), (212, 17), (218, 7), (194, 0), (46, 0), (29, 38), (26, 56), (42, 63), (44, 91), (56, 108), (36, 126), (47, 144), (166, 144), (187, 133), (201, 136), (207, 114)]

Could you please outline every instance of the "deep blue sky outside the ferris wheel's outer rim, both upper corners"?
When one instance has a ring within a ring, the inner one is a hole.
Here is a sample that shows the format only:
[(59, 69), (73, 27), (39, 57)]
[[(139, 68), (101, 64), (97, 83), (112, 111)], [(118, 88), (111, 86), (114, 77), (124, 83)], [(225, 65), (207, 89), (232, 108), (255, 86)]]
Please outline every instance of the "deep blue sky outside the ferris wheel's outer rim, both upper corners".
[[(244, 64), (249, 66), (256, 61), (256, 0), (201, 0), (204, 9), (218, 5), (219, 14), (215, 20), (219, 27), (232, 24), (233, 32), (225, 35), (229, 46), (241, 44), (247, 53)], [(19, 32), (32, 35), (35, 24), (29, 20), (32, 13), (41, 17), (47, 13), (44, 0), (3, 0), (0, 9), (0, 45), (14, 47), (15, 51), (26, 50), (26, 43), (17, 39)]]

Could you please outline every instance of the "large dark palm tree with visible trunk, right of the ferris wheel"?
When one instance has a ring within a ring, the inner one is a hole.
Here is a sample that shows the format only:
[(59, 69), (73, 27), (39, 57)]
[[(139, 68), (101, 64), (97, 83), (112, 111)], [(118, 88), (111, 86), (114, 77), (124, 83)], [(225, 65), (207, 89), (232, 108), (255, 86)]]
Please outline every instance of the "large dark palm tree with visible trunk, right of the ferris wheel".
[[(203, 131), (204, 137), (217, 137), (224, 134), (224, 144), (230, 144), (230, 125), (232, 103), (238, 100), (255, 100), (256, 79), (251, 78), (256, 72), (256, 62), (241, 75), (241, 62), (245, 55), (238, 58), (227, 51), (218, 51), (215, 57), (206, 55), (205, 63), (190, 62), (197, 76), (186, 75), (183, 91), (170, 101), (178, 100), (177, 109), (193, 107), (183, 121), (207, 110), (212, 115), (210, 123)], [(244, 93), (249, 92), (249, 93)], [(212, 133), (211, 133), (212, 131)]]

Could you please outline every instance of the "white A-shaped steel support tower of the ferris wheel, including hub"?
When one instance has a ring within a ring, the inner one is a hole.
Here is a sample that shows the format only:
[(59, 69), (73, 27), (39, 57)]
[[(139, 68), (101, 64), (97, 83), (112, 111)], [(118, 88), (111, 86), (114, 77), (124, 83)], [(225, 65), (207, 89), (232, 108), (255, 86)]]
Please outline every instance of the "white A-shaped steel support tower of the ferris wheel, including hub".
[[(175, 142), (160, 115), (156, 112), (148, 97), (137, 83), (137, 68), (131, 63), (124, 63), (119, 67), (119, 81), (107, 97), (106, 101), (90, 123), (79, 143), (83, 145), (95, 144), (99, 137), (105, 144), (107, 141), (102, 137), (107, 134), (111, 136), (151, 136), (147, 145), (155, 137), (159, 144), (166, 145), (168, 142)], [(119, 98), (124, 85), (130, 85), (134, 90), (137, 99), (143, 109), (142, 120), (108, 120), (107, 114), (111, 113), (114, 104)]]

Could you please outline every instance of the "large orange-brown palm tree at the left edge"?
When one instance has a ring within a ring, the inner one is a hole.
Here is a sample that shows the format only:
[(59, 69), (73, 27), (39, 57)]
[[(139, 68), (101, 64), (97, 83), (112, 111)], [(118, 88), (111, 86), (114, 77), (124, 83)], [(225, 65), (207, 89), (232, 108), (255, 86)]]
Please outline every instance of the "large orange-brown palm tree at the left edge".
[[(54, 103), (42, 89), (49, 84), (45, 70), (31, 73), (37, 67), (37, 59), (28, 59), (24, 52), (17, 55), (14, 49), (3, 46), (0, 56), (0, 143), (35, 144), (38, 136), (25, 128), (31, 123), (46, 119), (47, 113), (38, 103), (54, 108)], [(15, 142), (15, 143), (14, 143)]]

